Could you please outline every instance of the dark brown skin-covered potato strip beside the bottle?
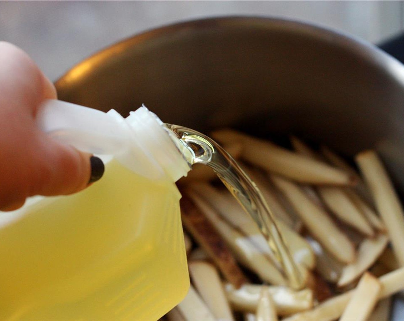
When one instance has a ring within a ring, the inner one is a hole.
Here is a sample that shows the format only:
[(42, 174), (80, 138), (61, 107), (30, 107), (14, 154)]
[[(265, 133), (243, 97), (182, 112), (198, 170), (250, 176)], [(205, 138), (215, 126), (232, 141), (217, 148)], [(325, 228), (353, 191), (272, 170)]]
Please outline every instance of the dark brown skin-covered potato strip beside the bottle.
[(216, 263), (224, 277), (234, 286), (240, 287), (246, 282), (246, 277), (237, 265), (223, 237), (217, 233), (213, 225), (189, 198), (182, 197), (180, 206), (182, 222), (187, 231)]

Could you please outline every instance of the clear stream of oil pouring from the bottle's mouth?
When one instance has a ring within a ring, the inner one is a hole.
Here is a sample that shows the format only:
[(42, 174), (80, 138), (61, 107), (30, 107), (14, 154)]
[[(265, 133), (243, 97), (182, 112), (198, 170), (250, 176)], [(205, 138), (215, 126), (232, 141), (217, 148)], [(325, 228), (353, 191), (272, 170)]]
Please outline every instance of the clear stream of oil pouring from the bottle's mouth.
[(166, 124), (177, 138), (177, 147), (189, 164), (206, 164), (219, 176), (242, 208), (257, 223), (281, 266), (281, 273), (290, 287), (301, 289), (304, 281), (280, 233), (274, 215), (257, 186), (248, 178), (237, 162), (209, 137), (182, 126)]

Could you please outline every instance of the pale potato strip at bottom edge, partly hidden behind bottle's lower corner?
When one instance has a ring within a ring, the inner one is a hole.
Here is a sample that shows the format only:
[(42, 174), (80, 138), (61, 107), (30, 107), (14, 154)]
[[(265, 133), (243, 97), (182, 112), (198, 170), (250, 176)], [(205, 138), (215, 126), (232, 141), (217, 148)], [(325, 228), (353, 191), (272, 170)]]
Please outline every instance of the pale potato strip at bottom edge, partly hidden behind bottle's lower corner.
[(196, 293), (192, 285), (189, 286), (189, 290), (185, 298), (177, 305), (177, 308), (181, 315), (187, 321), (204, 320), (215, 321), (215, 317), (209, 311), (206, 304)]

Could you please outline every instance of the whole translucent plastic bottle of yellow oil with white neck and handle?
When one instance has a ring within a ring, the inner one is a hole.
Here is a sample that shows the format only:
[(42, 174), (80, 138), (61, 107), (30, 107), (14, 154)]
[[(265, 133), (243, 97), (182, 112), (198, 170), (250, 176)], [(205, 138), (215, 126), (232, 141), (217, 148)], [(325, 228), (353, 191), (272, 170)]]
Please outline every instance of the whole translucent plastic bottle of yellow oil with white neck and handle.
[(39, 126), (114, 158), (80, 193), (0, 213), (0, 319), (156, 320), (189, 287), (174, 184), (189, 164), (145, 107), (65, 104), (48, 101)]

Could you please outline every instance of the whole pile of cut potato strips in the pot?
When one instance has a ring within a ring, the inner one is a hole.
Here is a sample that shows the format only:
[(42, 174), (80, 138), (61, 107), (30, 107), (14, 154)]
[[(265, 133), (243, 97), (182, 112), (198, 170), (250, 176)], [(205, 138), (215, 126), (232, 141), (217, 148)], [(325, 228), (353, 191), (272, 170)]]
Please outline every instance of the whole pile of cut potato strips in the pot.
[(178, 182), (191, 287), (162, 320), (389, 320), (404, 213), (377, 153), (356, 155), (356, 170), (294, 136), (292, 150), (235, 130), (210, 137), (260, 189), (306, 286), (288, 287), (252, 218), (196, 165)]

